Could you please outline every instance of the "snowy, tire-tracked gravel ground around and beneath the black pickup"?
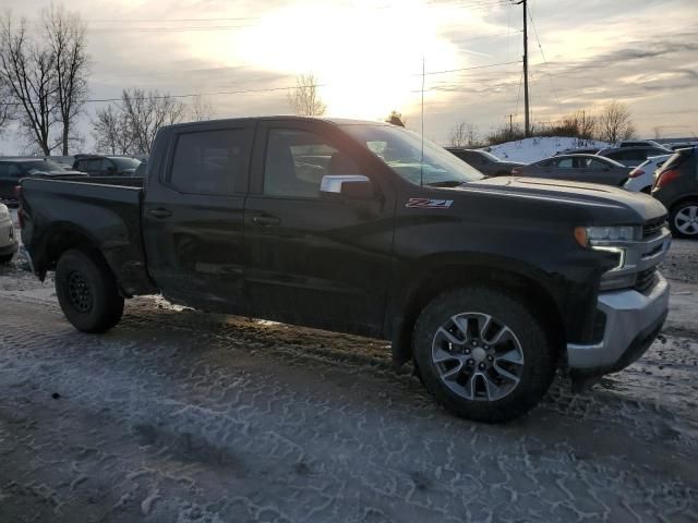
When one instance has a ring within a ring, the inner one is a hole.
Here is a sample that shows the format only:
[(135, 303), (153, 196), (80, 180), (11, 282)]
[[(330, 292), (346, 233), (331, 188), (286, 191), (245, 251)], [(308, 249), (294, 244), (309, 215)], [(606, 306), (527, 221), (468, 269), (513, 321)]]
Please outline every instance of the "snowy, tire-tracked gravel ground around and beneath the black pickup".
[[(20, 264), (21, 265), (21, 264)], [(698, 243), (638, 363), (525, 418), (436, 406), (385, 342), (128, 302), (105, 336), (0, 270), (0, 521), (698, 520)]]

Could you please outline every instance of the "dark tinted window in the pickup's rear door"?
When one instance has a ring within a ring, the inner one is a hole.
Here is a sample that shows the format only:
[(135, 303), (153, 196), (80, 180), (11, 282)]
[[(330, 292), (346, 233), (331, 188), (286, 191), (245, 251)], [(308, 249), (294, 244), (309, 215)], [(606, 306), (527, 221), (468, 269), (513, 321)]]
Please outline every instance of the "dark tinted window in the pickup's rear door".
[(248, 149), (243, 129), (182, 133), (168, 181), (180, 193), (233, 194), (245, 175)]

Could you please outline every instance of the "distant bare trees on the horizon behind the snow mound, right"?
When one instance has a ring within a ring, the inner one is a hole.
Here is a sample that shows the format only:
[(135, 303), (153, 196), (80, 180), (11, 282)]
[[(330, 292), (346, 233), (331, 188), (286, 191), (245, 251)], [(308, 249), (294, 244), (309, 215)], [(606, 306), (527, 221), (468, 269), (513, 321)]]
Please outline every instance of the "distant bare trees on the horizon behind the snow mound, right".
[[(530, 135), (568, 136), (577, 138), (580, 144), (591, 139), (613, 144), (637, 137), (637, 130), (628, 106), (612, 100), (595, 115), (591, 111), (580, 109), (565, 114), (556, 122), (533, 124)], [(525, 136), (521, 125), (512, 121), (508, 125), (501, 125), (485, 135), (480, 135), (474, 124), (460, 122), (450, 130), (448, 145), (476, 148), (524, 139)]]

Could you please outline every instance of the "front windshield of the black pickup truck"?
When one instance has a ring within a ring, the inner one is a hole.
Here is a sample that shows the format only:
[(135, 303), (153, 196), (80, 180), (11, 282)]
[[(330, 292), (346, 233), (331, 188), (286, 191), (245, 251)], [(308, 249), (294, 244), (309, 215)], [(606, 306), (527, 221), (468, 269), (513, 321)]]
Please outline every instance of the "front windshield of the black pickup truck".
[(346, 124), (341, 126), (368, 147), (398, 175), (419, 185), (459, 185), (482, 180), (482, 173), (443, 147), (419, 134), (393, 125)]

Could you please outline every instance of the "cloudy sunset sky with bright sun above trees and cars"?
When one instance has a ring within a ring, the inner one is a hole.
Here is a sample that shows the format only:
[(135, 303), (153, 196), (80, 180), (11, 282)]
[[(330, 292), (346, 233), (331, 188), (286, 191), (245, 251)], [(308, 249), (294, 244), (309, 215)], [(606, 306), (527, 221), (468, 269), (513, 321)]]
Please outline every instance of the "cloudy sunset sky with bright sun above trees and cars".
[[(2, 9), (37, 20), (47, 4), (3, 0)], [(397, 110), (421, 132), (423, 114), (424, 135), (444, 145), (459, 122), (486, 135), (510, 114), (524, 121), (522, 9), (508, 0), (63, 5), (87, 24), (91, 99), (137, 87), (201, 95), (216, 118), (288, 114), (287, 88), (312, 73), (328, 115), (376, 120)], [(696, 136), (697, 0), (529, 0), (529, 8), (532, 122), (619, 100), (642, 137)], [(85, 107), (85, 150), (105, 105)], [(13, 130), (0, 136), (0, 154), (23, 146)]]

